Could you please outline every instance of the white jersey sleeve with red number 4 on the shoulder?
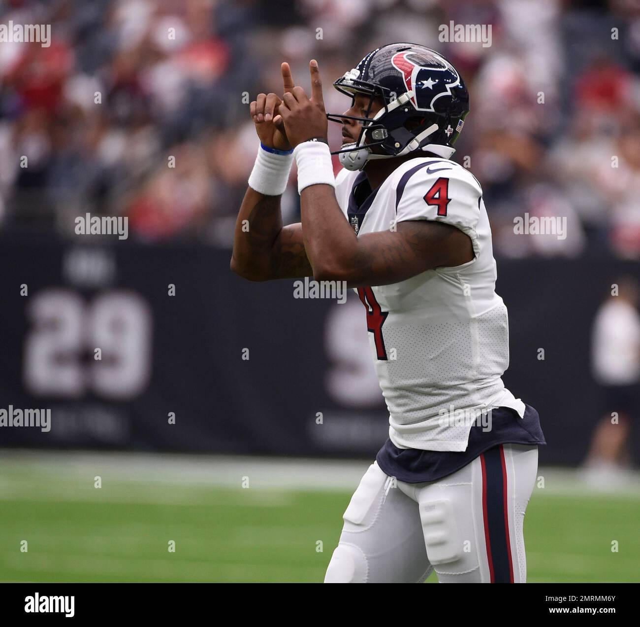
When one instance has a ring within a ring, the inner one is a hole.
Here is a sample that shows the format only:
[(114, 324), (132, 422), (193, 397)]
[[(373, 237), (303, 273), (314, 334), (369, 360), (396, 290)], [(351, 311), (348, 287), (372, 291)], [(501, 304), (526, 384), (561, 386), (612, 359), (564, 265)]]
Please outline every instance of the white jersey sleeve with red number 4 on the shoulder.
[[(429, 173), (430, 169), (433, 172)], [(444, 168), (439, 163), (408, 174), (396, 190), (396, 222), (433, 220), (451, 224), (468, 235), (477, 258), (482, 189), (474, 176), (460, 165)]]

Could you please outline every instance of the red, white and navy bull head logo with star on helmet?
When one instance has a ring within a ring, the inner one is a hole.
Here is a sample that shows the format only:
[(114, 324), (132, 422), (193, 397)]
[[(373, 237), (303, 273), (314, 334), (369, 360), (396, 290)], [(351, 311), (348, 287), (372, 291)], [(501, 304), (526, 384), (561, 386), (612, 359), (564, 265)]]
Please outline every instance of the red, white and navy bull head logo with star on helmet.
[[(413, 62), (412, 51), (394, 54), (391, 63), (403, 75), (411, 102), (418, 111), (435, 111), (434, 103), (440, 96), (451, 95), (451, 88), (460, 85), (456, 69), (441, 56), (420, 54), (423, 58)], [(428, 64), (428, 65), (425, 65)]]

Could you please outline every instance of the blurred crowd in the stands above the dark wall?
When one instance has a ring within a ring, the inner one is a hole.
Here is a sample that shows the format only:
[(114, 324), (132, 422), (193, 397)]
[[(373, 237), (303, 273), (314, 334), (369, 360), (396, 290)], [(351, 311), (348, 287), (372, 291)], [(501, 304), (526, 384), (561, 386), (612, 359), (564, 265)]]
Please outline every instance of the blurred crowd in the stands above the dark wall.
[[(228, 246), (249, 103), (282, 90), (280, 62), (308, 87), (317, 58), (342, 112), (332, 81), (408, 41), (467, 82), (454, 159), (483, 185), (497, 256), (640, 257), (637, 0), (0, 0), (9, 21), (51, 24), (51, 46), (0, 42), (0, 232), (72, 233), (91, 212), (148, 242)], [(491, 24), (491, 46), (441, 42), (450, 21)], [(296, 221), (294, 186), (283, 206)], [(566, 239), (517, 235), (525, 214), (566, 217)]]

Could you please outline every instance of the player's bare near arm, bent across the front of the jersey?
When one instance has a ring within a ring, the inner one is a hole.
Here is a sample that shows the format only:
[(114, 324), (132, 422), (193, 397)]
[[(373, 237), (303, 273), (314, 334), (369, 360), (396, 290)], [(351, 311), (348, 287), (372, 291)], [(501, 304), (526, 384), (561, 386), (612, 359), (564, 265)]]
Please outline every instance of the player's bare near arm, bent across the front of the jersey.
[(356, 237), (330, 185), (305, 188), (301, 212), (305, 249), (318, 281), (346, 281), (348, 287), (389, 285), (474, 258), (470, 238), (442, 222), (400, 222), (396, 231)]

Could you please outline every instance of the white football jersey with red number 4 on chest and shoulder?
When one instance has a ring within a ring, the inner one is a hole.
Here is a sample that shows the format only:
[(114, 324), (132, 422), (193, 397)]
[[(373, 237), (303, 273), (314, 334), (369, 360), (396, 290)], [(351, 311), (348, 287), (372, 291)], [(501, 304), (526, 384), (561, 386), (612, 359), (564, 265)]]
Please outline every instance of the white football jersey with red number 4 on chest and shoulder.
[(475, 258), (468, 263), (356, 289), (367, 306), (390, 440), (401, 448), (464, 451), (481, 412), (506, 406), (522, 417), (525, 409), (501, 379), (509, 365), (508, 317), (495, 293), (482, 189), (461, 165), (435, 156), (402, 163), (358, 208), (354, 191), (363, 180), (364, 172), (342, 170), (335, 188), (358, 236), (434, 220), (471, 238)]

